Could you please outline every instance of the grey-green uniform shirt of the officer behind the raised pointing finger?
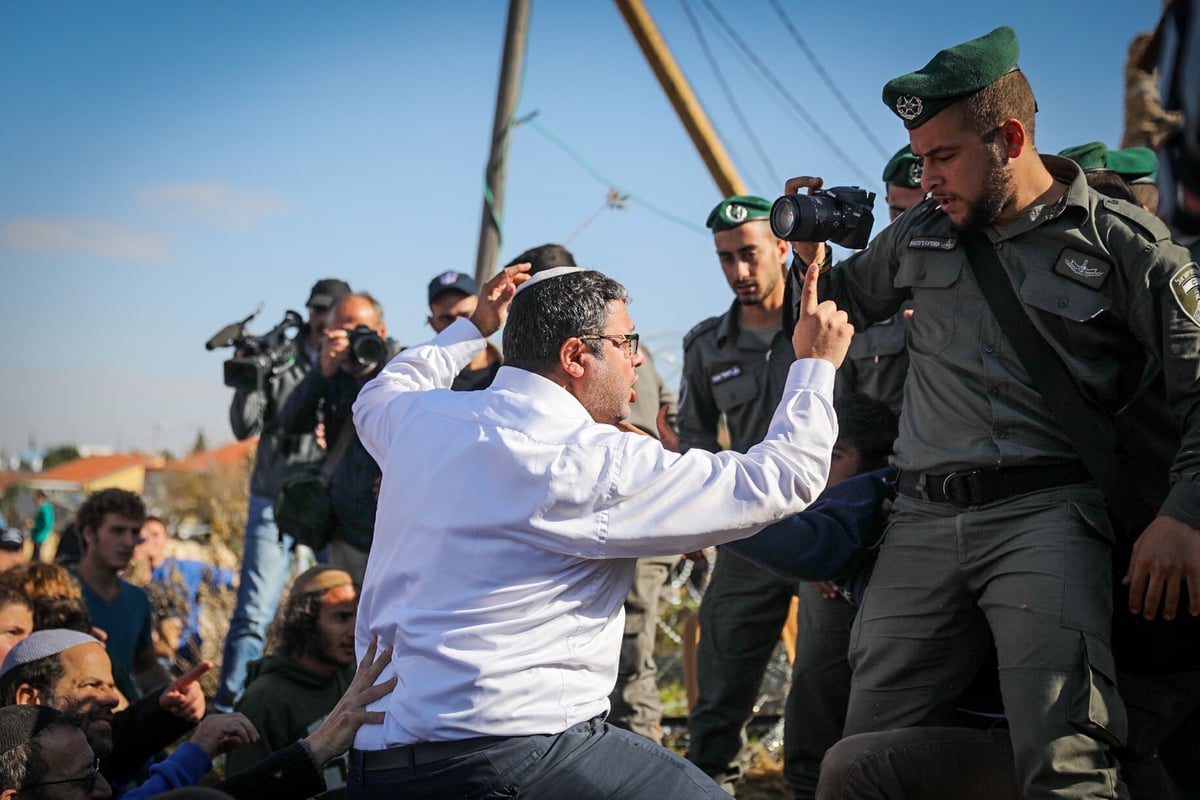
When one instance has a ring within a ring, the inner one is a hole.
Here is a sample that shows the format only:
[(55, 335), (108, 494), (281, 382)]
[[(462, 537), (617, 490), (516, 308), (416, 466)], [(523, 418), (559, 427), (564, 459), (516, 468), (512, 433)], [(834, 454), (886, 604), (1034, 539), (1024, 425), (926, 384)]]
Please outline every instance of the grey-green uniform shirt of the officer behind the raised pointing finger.
[(780, 327), (770, 347), (738, 327), (738, 302), (710, 317), (683, 339), (679, 386), (679, 450), (718, 451), (725, 416), (730, 449), (745, 452), (762, 441), (796, 361), (791, 337)]

